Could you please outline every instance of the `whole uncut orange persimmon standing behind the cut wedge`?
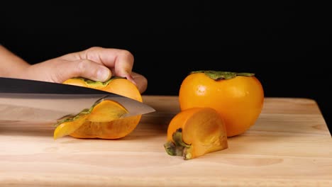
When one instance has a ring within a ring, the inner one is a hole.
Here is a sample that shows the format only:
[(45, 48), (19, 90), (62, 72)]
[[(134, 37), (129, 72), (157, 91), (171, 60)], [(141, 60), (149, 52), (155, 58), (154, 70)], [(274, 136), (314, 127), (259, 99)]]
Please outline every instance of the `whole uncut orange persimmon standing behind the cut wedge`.
[(181, 110), (214, 108), (225, 120), (228, 137), (240, 135), (254, 125), (263, 103), (262, 84), (251, 73), (190, 72), (179, 89)]

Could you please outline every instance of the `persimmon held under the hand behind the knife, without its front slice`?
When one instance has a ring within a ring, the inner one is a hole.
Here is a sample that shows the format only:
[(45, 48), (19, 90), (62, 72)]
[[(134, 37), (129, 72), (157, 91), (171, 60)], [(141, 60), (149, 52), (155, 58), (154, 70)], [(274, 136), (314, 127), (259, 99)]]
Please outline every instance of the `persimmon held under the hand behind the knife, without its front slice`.
[[(87, 82), (82, 79), (68, 79), (63, 84), (84, 86), (92, 89), (108, 91), (143, 102), (143, 98), (138, 91), (138, 88), (128, 79), (114, 79), (106, 85), (87, 84)], [(142, 115), (135, 115), (103, 123), (86, 121), (79, 129), (70, 134), (70, 136), (77, 138), (118, 139), (130, 134), (140, 122), (141, 117)]]

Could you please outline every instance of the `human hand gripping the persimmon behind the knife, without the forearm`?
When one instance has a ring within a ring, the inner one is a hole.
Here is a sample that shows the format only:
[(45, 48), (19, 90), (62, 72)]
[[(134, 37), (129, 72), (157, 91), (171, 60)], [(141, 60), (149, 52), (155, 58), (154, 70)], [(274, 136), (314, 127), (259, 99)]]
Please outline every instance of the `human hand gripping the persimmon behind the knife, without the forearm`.
[(29, 66), (21, 75), (35, 79), (62, 83), (72, 77), (84, 77), (94, 81), (106, 81), (111, 76), (126, 77), (142, 94), (148, 86), (143, 75), (132, 72), (133, 55), (127, 50), (91, 47), (45, 62)]

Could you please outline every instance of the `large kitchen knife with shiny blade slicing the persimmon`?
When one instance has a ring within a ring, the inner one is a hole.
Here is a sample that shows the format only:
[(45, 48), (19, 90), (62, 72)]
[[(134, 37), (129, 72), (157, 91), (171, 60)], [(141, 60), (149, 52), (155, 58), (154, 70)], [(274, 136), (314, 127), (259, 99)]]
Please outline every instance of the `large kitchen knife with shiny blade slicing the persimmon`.
[(132, 98), (83, 86), (0, 77), (0, 120), (56, 122), (91, 108), (96, 101), (117, 101), (128, 110), (122, 118), (155, 111)]

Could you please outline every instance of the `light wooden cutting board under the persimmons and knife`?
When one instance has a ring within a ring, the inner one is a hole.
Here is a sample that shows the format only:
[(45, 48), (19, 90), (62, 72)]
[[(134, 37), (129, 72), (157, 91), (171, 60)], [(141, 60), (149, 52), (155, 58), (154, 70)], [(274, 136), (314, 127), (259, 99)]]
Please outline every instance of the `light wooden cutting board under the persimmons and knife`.
[(121, 140), (53, 140), (50, 124), (0, 123), (0, 186), (332, 186), (332, 138), (316, 102), (265, 98), (229, 148), (185, 161), (166, 154), (176, 96), (143, 96), (157, 111)]

